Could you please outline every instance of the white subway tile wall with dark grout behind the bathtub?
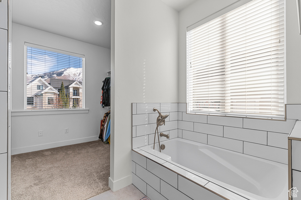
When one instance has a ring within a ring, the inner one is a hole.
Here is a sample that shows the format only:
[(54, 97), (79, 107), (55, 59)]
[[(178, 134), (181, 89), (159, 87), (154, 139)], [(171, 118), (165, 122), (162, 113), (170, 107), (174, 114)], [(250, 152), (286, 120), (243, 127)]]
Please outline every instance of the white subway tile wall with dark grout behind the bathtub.
[(154, 107), (169, 114), (165, 126), (159, 126), (159, 133), (169, 134), (169, 139), (180, 137), (284, 164), (287, 136), (301, 119), (300, 104), (287, 105), (287, 120), (275, 121), (187, 114), (186, 103), (133, 103), (133, 149), (154, 143)]

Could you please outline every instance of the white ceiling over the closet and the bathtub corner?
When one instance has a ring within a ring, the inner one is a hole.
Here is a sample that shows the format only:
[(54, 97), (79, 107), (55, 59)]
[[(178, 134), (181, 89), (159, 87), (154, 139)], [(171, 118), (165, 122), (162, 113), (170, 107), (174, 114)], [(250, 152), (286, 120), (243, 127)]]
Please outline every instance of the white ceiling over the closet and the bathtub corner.
[[(196, 0), (162, 1), (181, 11)], [(111, 0), (13, 0), (12, 22), (110, 48)]]

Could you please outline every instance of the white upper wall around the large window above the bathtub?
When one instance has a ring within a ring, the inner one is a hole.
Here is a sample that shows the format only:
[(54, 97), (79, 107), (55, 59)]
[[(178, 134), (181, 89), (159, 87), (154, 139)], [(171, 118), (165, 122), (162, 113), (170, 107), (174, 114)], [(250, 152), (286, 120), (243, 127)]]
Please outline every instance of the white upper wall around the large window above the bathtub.
[[(198, 0), (179, 13), (179, 103), (186, 103), (186, 28), (237, 0)], [(287, 104), (301, 103), (301, 35), (298, 33), (296, 1), (286, 1)]]

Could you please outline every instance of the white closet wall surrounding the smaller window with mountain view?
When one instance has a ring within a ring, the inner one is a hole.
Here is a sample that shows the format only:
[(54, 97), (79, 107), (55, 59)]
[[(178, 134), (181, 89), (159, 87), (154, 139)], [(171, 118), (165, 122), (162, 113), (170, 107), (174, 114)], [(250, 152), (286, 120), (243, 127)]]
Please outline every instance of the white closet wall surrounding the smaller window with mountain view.
[[(100, 121), (108, 110), (101, 108), (100, 98), (102, 81), (110, 71), (110, 49), (13, 23), (12, 111), (24, 110), (24, 42), (85, 55), (85, 108), (89, 112), (12, 116), (12, 154), (97, 140)], [(38, 131), (43, 131), (42, 137)]]

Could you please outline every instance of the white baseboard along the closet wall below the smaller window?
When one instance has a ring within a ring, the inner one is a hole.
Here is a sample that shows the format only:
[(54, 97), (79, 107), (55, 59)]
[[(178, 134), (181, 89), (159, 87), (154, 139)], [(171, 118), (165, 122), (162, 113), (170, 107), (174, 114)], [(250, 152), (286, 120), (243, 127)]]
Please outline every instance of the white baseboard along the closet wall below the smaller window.
[(20, 148), (16, 148), (16, 149), (11, 149), (11, 155), (39, 151), (39, 150), (44, 150), (44, 149), (51, 149), (51, 148), (55, 148), (55, 147), (59, 147), (59, 146), (79, 144), (79, 143), (83, 143), (83, 142), (91, 142), (91, 141), (95, 141), (95, 140), (98, 140), (98, 136), (85, 137), (85, 138), (66, 140), (66, 141), (47, 143), (47, 144), (40, 144), (40, 145), (35, 145), (35, 146), (20, 147)]

